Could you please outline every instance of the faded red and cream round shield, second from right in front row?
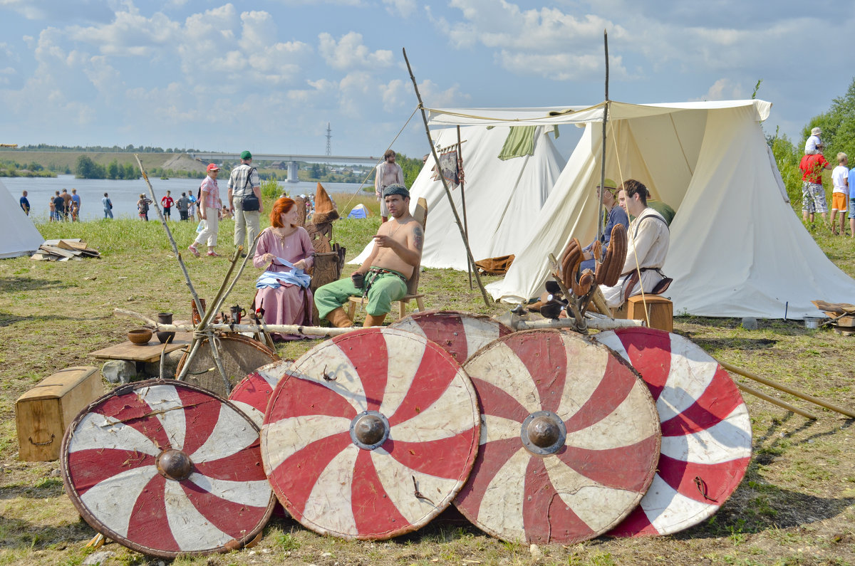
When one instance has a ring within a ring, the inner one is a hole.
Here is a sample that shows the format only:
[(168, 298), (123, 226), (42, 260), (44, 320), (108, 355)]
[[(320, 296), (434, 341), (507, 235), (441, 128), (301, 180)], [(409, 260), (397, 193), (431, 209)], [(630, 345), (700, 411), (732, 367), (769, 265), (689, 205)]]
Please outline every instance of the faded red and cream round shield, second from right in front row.
[(638, 374), (574, 333), (530, 330), (463, 368), (481, 445), (455, 504), (500, 539), (572, 544), (614, 528), (650, 486), (659, 419)]

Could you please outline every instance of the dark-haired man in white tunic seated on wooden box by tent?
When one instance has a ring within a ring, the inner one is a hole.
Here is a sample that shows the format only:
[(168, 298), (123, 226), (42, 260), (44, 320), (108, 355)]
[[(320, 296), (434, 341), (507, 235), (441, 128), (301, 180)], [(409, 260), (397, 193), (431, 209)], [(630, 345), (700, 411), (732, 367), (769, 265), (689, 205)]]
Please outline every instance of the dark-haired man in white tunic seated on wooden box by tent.
[(661, 268), (668, 254), (668, 223), (656, 210), (647, 206), (649, 193), (639, 181), (624, 181), (618, 202), (635, 216), (627, 231), (627, 258), (623, 262), (621, 279), (616, 286), (600, 286), (605, 302), (611, 308), (619, 307), (633, 295), (652, 292), (665, 278)]

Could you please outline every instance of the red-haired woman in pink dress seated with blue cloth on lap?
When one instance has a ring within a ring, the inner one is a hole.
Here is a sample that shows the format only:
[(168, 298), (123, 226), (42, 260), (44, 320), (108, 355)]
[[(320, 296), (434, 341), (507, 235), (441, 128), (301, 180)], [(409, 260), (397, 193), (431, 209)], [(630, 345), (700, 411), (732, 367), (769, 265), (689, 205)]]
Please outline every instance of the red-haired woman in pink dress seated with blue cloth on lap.
[[(252, 258), (253, 265), (265, 269), (265, 274), (259, 278), (255, 306), (263, 307), (264, 321), (268, 324), (312, 323), (309, 278), (305, 275), (301, 277), (300, 273), (314, 265), (315, 250), (309, 233), (304, 227), (299, 227), (297, 222), (294, 201), (291, 198), (277, 200), (270, 211), (271, 226), (262, 231), (256, 255)], [(293, 268), (286, 262), (292, 264)], [(274, 333), (274, 339), (298, 338), (302, 337)]]

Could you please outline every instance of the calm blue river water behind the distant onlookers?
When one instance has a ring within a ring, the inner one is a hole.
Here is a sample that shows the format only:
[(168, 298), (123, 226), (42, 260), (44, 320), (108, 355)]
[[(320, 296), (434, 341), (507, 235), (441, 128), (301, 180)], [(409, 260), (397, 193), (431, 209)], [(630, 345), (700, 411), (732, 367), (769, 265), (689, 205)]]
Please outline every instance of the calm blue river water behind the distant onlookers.
[[(155, 196), (158, 203), (160, 199), (166, 195), (167, 191), (172, 192), (172, 198), (178, 200), (182, 192), (196, 192), (200, 179), (150, 179), (151, 186), (154, 188)], [(33, 220), (47, 221), (49, 214), (49, 198), (55, 196), (55, 192), (62, 192), (62, 189), (71, 190), (77, 189), (77, 194), (80, 195), (80, 220), (97, 220), (103, 218), (103, 206), (101, 199), (104, 192), (109, 193), (109, 198), (113, 202), (113, 215), (116, 218), (137, 216), (137, 201), (140, 194), (148, 196), (148, 186), (142, 178), (135, 180), (108, 180), (108, 179), (75, 179), (74, 175), (57, 175), (51, 177), (0, 177), (0, 182), (9, 189), (12, 197), (15, 198), (15, 203), (18, 198), (21, 198), (21, 192), (27, 191), (27, 199), (30, 201), (30, 216)], [(220, 187), (220, 197), (225, 201), (226, 186), (228, 179), (221, 179), (217, 185)], [(290, 196), (299, 194), (315, 195), (315, 181), (300, 181), (298, 183), (288, 183), (280, 181), (282, 190)], [(353, 194), (359, 190), (358, 183), (324, 183), (323, 187), (327, 192), (346, 192)], [(373, 186), (371, 187), (374, 188)], [(173, 209), (174, 218), (178, 218), (178, 212)], [(157, 213), (154, 209), (149, 211), (149, 219), (156, 219)]]

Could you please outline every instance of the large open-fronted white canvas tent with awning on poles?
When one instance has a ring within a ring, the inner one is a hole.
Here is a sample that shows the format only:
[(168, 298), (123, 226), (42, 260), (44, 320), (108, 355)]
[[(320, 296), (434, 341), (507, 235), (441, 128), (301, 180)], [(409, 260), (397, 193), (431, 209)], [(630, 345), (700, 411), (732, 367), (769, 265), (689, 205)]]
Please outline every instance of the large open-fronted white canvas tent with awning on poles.
[[(770, 108), (760, 100), (610, 103), (606, 176), (638, 179), (677, 210), (663, 269), (675, 280), (675, 313), (781, 318), (786, 310), (798, 318), (817, 315), (811, 299), (855, 303), (855, 280), (828, 260), (787, 202), (760, 127)], [(487, 286), (494, 298), (537, 296), (547, 254), (558, 255), (571, 237), (593, 239), (603, 109), (431, 111), (433, 125), (586, 128), (507, 276)]]

